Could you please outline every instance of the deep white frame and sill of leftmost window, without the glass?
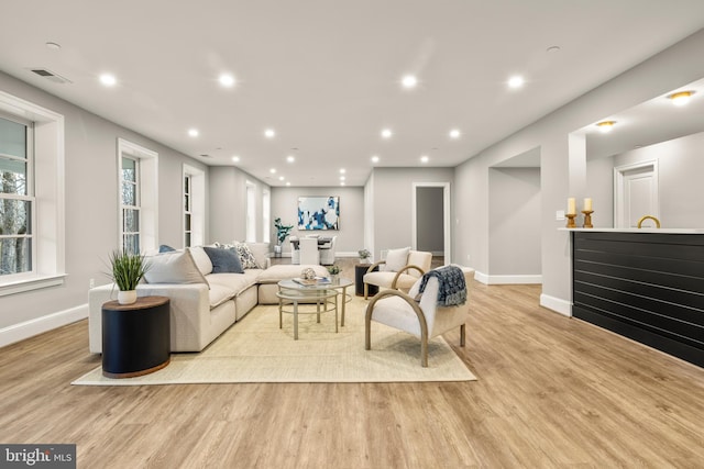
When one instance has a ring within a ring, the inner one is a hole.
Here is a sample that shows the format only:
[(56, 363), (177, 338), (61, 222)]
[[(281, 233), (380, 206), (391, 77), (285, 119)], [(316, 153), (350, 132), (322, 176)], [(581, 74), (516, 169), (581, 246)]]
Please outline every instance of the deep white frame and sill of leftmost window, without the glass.
[[(65, 271), (64, 116), (0, 91), (0, 112), (33, 122), (32, 270), (0, 278), (0, 297), (61, 286)], [(28, 155), (29, 156), (29, 155)], [(41, 223), (38, 223), (41, 221)]]

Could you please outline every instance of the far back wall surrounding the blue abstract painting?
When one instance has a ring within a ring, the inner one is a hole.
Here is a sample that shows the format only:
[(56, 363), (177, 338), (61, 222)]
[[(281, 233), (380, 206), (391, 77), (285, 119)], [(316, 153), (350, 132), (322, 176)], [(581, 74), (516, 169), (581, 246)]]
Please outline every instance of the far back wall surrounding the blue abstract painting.
[[(356, 255), (364, 247), (364, 188), (362, 187), (273, 187), (272, 188), (272, 224), (277, 217), (285, 225), (294, 225), (293, 236), (311, 234), (298, 231), (298, 198), (305, 196), (339, 196), (340, 230), (316, 231), (315, 234), (338, 236), (336, 250), (338, 255)], [(272, 243), (275, 244), (275, 231), (272, 227)], [(288, 238), (283, 245), (284, 256), (290, 256)]]

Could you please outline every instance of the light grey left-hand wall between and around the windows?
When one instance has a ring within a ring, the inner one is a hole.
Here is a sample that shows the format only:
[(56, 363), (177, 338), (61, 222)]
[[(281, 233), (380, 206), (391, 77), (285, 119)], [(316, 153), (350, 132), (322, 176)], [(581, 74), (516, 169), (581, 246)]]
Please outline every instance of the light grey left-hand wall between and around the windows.
[(183, 165), (199, 161), (0, 72), (0, 89), (65, 118), (66, 280), (61, 287), (0, 298), (0, 345), (87, 316), (89, 280), (109, 282), (119, 246), (117, 141), (158, 153), (161, 244), (183, 245)]

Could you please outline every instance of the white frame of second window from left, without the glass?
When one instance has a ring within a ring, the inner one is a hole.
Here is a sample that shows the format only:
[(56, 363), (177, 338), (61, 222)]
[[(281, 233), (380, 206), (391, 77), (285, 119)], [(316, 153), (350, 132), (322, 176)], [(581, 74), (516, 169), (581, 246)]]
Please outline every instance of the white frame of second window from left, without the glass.
[(118, 246), (122, 247), (122, 157), (139, 160), (140, 252), (158, 249), (158, 153), (124, 138), (118, 138)]

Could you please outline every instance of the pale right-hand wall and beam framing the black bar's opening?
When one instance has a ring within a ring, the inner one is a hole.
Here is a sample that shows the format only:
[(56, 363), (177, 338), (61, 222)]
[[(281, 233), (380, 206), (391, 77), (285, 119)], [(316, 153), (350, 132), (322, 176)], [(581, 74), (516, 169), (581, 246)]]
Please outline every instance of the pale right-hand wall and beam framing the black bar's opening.
[[(571, 260), (569, 233), (559, 231), (556, 211), (564, 210), (568, 197), (586, 193), (585, 165), (582, 174), (570, 171), (569, 134), (624, 109), (704, 77), (704, 60), (695, 60), (704, 49), (704, 30), (631, 68), (510, 137), (491, 146), (455, 172), (457, 228), (454, 253), (471, 256), (479, 271), (490, 269), (490, 226), (486, 213), (488, 168), (532, 148), (540, 148), (541, 167), (541, 303), (570, 313)], [(469, 201), (471, 203), (463, 203)], [(597, 209), (598, 210), (598, 209)], [(594, 216), (598, 219), (597, 211)]]

